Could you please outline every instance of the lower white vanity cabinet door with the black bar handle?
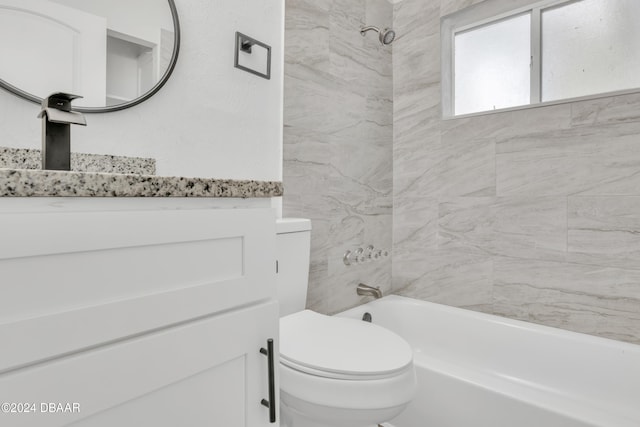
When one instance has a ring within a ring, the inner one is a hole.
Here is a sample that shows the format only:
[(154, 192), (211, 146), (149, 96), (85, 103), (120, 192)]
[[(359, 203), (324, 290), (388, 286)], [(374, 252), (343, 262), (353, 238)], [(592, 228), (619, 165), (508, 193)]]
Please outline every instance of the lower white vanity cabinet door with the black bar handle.
[(0, 376), (0, 402), (35, 410), (0, 413), (0, 425), (278, 425), (261, 405), (268, 366), (260, 353), (268, 338), (277, 348), (277, 333), (278, 307), (270, 301), (7, 373)]

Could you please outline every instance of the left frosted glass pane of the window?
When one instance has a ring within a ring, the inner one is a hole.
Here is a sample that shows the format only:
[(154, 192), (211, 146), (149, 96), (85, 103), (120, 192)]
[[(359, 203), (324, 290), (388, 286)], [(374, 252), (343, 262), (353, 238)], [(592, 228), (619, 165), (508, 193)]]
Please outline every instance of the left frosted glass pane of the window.
[(456, 115), (529, 104), (530, 36), (530, 14), (455, 35)]

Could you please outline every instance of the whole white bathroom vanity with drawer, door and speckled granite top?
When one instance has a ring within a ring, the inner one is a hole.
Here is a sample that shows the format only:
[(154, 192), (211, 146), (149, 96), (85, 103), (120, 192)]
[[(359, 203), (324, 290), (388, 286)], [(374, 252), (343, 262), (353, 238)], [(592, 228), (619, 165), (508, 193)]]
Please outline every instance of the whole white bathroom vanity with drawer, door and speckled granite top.
[[(51, 176), (15, 173), (25, 191)], [(271, 425), (271, 185), (244, 199), (0, 197), (0, 425)]]

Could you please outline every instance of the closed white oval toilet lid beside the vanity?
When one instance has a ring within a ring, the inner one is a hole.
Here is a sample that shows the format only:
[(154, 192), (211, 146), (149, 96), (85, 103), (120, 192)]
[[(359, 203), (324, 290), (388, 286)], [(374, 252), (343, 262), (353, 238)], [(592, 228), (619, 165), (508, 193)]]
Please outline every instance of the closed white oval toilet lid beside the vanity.
[(304, 310), (280, 319), (280, 362), (328, 378), (387, 378), (410, 366), (413, 352), (381, 326)]

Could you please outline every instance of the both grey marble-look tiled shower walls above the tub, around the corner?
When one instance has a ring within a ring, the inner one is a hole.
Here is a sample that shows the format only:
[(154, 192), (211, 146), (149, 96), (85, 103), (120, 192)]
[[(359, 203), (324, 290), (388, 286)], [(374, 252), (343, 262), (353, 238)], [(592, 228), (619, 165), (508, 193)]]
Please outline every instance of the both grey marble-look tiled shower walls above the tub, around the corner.
[[(475, 3), (287, 0), (284, 214), (313, 220), (308, 305), (356, 305), (364, 282), (638, 343), (640, 96), (443, 119), (440, 18)], [(367, 244), (392, 260), (344, 266)]]

